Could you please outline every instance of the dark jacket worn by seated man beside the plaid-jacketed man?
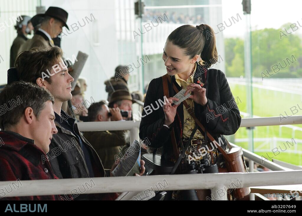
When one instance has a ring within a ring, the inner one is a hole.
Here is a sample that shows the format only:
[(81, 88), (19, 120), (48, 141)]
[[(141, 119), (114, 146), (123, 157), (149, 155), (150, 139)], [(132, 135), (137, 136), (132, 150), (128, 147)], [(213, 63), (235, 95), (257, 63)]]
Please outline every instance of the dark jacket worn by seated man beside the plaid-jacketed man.
[[(85, 156), (90, 157), (93, 177), (106, 177), (104, 167), (101, 159), (96, 153), (95, 149), (79, 132), (78, 125), (74, 123), (75, 119), (69, 117), (63, 110), (61, 110), (61, 118), (55, 113), (55, 125), (58, 133), (53, 134), (49, 146), (49, 162), (53, 168), (53, 172), (59, 178), (89, 178), (92, 177), (86, 165)], [(70, 130), (61, 126), (60, 121), (67, 120), (74, 125), (74, 132), (80, 136), (82, 143), (88, 149), (89, 155), (84, 155), (78, 137), (76, 137)], [(117, 198), (117, 193), (103, 193), (103, 194), (82, 194), (77, 199), (98, 199), (98, 200), (114, 200)]]

